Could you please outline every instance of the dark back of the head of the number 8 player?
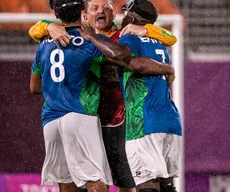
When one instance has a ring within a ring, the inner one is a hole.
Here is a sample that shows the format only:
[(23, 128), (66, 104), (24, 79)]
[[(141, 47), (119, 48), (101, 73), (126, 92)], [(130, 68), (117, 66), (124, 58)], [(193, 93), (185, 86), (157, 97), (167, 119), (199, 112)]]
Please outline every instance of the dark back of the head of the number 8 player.
[(76, 22), (84, 9), (82, 0), (53, 0), (52, 7), (55, 15), (62, 22)]

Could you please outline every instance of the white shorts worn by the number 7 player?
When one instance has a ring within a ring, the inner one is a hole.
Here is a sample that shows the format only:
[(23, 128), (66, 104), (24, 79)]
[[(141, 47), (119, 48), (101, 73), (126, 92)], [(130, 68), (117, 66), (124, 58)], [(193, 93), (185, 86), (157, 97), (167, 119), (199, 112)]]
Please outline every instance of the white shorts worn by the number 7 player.
[(126, 141), (126, 154), (136, 185), (158, 177), (178, 176), (180, 136), (154, 133)]

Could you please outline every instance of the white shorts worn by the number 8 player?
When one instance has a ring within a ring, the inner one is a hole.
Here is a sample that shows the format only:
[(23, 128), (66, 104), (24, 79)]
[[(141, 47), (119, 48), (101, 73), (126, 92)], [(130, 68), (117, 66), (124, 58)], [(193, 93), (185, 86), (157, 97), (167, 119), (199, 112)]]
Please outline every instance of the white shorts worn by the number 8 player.
[(98, 117), (68, 113), (44, 126), (42, 184), (112, 184)]

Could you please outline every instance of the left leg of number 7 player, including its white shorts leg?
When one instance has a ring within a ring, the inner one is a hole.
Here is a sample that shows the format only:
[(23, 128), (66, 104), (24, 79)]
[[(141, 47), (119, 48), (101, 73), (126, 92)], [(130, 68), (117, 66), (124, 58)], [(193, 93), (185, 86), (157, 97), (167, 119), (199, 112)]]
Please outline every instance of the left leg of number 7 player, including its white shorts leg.
[(159, 191), (159, 177), (167, 178), (167, 167), (162, 154), (163, 137), (154, 134), (126, 141), (126, 153), (133, 178), (139, 190)]

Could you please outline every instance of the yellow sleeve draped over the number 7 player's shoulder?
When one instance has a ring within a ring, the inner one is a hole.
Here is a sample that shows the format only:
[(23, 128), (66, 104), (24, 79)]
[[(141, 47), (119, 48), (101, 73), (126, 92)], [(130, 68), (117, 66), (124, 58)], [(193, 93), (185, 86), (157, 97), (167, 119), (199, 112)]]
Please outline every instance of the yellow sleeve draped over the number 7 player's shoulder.
[(177, 42), (177, 38), (172, 32), (164, 28), (152, 24), (146, 24), (144, 28), (147, 29), (147, 37), (157, 39), (166, 46), (172, 46)]

